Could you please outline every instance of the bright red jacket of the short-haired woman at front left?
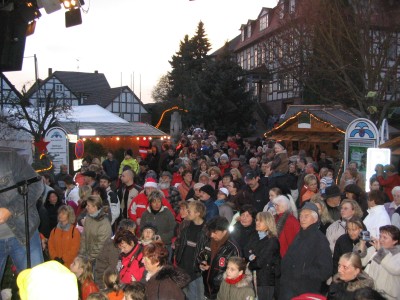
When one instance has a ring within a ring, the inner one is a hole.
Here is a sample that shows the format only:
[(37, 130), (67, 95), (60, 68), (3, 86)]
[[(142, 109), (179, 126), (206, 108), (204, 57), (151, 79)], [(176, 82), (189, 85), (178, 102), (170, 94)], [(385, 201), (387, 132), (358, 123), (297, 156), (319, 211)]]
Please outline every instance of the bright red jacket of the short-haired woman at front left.
[(127, 256), (121, 256), (122, 269), (119, 271), (121, 282), (130, 284), (132, 276), (140, 281), (143, 276), (144, 266), (140, 264), (143, 258), (142, 245), (137, 244)]

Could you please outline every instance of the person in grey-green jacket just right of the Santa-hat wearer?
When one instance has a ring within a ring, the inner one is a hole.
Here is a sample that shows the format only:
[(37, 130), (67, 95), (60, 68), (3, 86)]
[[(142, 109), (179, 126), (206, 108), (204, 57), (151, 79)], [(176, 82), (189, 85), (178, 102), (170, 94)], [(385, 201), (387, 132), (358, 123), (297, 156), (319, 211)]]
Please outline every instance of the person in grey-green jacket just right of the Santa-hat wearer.
[(151, 223), (158, 229), (158, 234), (165, 246), (171, 252), (172, 237), (174, 236), (175, 217), (171, 211), (163, 205), (164, 194), (160, 190), (154, 190), (149, 194), (149, 206), (143, 212), (141, 222)]

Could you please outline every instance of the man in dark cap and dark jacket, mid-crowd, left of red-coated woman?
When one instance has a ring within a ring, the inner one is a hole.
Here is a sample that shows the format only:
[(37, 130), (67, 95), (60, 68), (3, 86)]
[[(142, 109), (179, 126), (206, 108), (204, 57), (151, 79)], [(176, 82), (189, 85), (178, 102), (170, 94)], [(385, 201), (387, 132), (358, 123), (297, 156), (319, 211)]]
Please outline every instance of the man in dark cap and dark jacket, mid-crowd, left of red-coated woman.
[(245, 175), (245, 202), (251, 203), (257, 212), (263, 211), (269, 200), (268, 188), (264, 185), (261, 185), (259, 183), (259, 179), (260, 177), (256, 171), (248, 171)]

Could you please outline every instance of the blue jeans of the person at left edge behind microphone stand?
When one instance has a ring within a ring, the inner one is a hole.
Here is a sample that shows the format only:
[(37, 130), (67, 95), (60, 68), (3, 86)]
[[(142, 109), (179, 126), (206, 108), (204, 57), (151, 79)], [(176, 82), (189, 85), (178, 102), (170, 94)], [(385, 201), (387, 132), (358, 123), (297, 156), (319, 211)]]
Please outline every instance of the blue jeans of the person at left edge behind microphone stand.
[[(22, 245), (16, 237), (0, 239), (0, 281), (3, 278), (8, 256), (11, 256), (18, 273), (27, 268), (25, 245)], [(39, 232), (36, 230), (31, 237), (31, 267), (41, 264), (42, 262), (42, 244), (40, 242)]]

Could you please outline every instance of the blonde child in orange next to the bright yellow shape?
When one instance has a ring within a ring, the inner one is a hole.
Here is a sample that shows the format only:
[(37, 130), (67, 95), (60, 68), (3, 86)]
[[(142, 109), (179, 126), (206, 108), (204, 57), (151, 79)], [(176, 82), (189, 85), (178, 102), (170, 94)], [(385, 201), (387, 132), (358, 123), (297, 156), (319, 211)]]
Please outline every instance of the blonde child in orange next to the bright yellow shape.
[(78, 255), (72, 262), (70, 270), (78, 278), (80, 299), (87, 300), (91, 293), (99, 291), (93, 281), (92, 264), (88, 258)]

